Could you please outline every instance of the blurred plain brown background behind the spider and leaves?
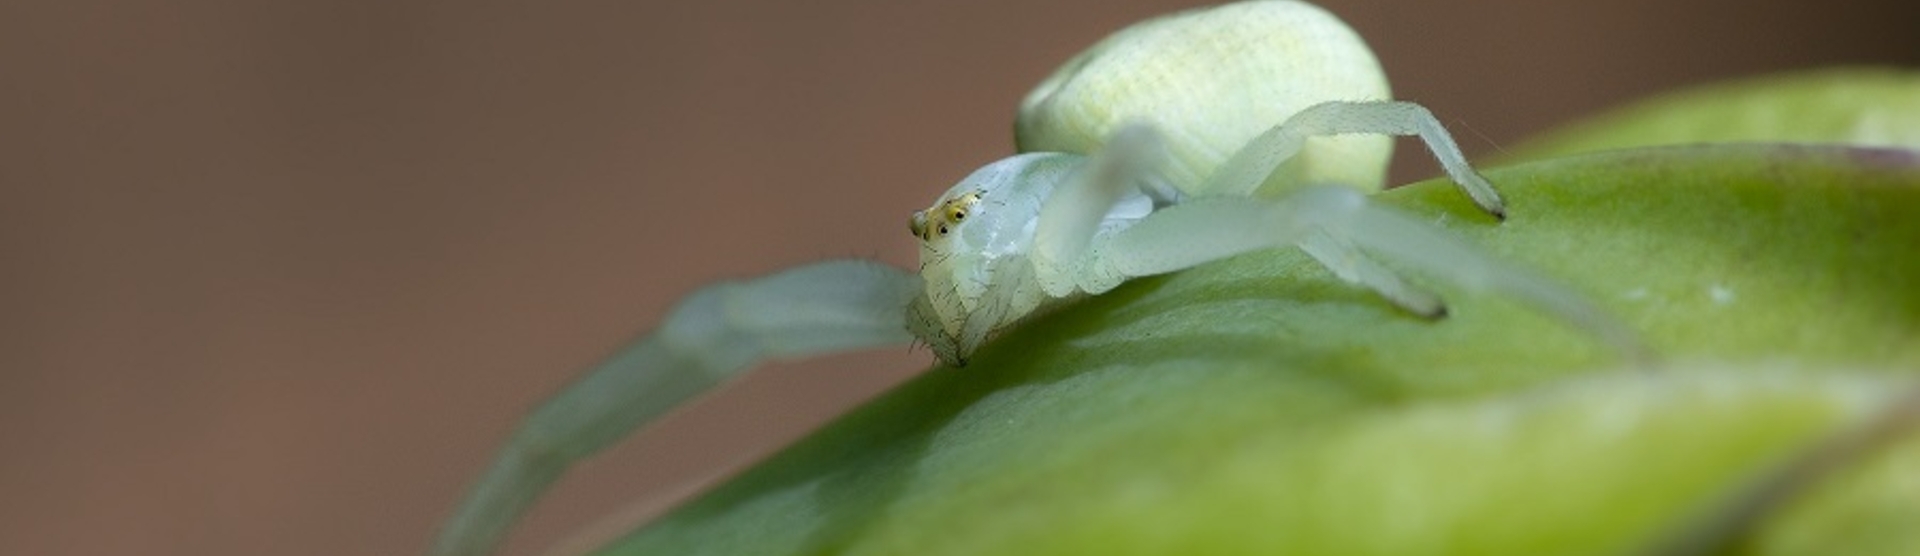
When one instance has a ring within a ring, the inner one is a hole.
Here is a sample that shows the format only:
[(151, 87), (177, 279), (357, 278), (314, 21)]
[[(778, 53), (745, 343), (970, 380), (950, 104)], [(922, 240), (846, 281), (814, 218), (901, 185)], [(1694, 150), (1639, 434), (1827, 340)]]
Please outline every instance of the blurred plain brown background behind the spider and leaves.
[[(680, 293), (910, 265), (906, 213), (1008, 153), (1029, 84), (1196, 2), (1039, 4), (0, 6), (0, 554), (420, 550), (522, 410)], [(1674, 84), (1920, 63), (1912, 2), (1325, 4), (1471, 155)], [(756, 374), (511, 552), (927, 360)]]

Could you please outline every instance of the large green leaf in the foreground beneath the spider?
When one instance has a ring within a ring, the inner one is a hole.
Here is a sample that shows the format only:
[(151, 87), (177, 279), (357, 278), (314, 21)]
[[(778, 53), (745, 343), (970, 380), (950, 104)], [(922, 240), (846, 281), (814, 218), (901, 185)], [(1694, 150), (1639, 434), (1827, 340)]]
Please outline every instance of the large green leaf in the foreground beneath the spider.
[[(1920, 155), (1705, 146), (1379, 199), (1553, 276), (1421, 320), (1294, 249), (1137, 280), (935, 368), (605, 554), (1920, 554), (1920, 435), (1780, 470), (1920, 370)], [(1912, 401), (1907, 399), (1907, 405)], [(1811, 479), (1809, 479), (1811, 477)]]

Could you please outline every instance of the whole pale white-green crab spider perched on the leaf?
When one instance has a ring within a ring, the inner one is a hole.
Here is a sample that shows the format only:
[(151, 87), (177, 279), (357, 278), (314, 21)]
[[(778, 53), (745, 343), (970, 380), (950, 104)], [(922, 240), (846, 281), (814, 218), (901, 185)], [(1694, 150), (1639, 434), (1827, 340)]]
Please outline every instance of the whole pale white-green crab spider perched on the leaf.
[(492, 552), (574, 462), (762, 360), (920, 339), (962, 364), (1043, 307), (1254, 249), (1302, 247), (1413, 314), (1444, 314), (1440, 297), (1382, 257), (1638, 353), (1582, 297), (1367, 201), (1386, 136), (1419, 136), (1480, 209), (1505, 215), (1425, 107), (1386, 98), (1359, 36), (1302, 2), (1229, 4), (1116, 33), (1023, 102), (1029, 153), (914, 213), (918, 274), (828, 261), (695, 291), (534, 410), (430, 554)]

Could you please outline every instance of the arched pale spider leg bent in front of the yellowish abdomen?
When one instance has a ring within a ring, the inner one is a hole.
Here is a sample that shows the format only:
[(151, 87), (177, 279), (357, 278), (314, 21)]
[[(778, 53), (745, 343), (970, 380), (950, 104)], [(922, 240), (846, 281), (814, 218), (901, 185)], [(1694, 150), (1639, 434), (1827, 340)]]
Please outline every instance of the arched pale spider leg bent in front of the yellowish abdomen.
[(1480, 209), (1505, 220), (1507, 205), (1500, 192), (1486, 182), (1467, 155), (1459, 151), (1453, 136), (1440, 127), (1427, 107), (1411, 102), (1371, 100), (1371, 102), (1323, 102), (1294, 113), (1284, 123), (1256, 136), (1233, 153), (1200, 188), (1208, 196), (1252, 196), (1281, 163), (1286, 163), (1311, 136), (1332, 134), (1388, 134), (1419, 136), (1432, 151), (1440, 167)]

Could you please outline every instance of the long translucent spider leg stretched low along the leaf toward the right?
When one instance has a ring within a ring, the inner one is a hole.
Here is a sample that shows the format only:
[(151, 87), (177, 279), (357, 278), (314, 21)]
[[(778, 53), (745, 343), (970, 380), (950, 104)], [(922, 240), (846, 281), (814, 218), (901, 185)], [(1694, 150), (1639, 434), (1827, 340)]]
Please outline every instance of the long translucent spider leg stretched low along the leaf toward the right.
[[(1096, 274), (1125, 278), (1188, 268), (1231, 255), (1315, 243), (1327, 234), (1334, 245), (1352, 245), (1428, 278), (1463, 290), (1517, 299), (1596, 336), (1636, 364), (1651, 362), (1640, 337), (1553, 280), (1505, 265), (1453, 240), (1444, 228), (1377, 205), (1350, 188), (1308, 186), (1279, 201), (1198, 197), (1162, 209), (1139, 224), (1106, 236), (1092, 247)], [(1319, 249), (1319, 247), (1313, 247)], [(1334, 272), (1344, 272), (1334, 268)], [(1380, 282), (1361, 280), (1379, 290)], [(1117, 282), (1116, 282), (1117, 286)], [(1098, 291), (1092, 291), (1098, 293)], [(1382, 291), (1388, 299), (1396, 293)]]

